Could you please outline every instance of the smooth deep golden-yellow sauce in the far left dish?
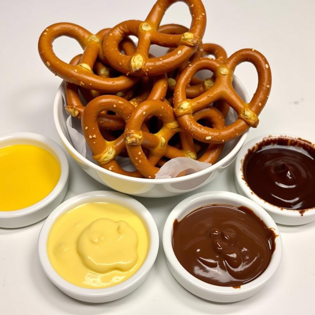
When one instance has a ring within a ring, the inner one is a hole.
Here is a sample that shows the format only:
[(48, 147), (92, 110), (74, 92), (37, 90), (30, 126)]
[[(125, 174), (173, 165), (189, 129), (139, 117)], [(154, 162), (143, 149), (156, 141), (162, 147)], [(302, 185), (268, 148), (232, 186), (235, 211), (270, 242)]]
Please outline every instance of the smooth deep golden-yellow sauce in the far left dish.
[(54, 189), (60, 165), (47, 150), (28, 144), (0, 148), (0, 211), (29, 207)]

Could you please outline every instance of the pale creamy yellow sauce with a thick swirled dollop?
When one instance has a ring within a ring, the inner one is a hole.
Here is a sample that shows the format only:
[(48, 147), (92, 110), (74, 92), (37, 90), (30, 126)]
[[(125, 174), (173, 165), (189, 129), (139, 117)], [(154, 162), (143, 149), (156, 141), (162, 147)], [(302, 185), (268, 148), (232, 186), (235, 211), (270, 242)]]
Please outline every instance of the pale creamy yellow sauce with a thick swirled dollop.
[(55, 271), (72, 284), (92, 289), (130, 278), (146, 259), (148, 247), (141, 219), (114, 203), (86, 203), (60, 215), (47, 241)]

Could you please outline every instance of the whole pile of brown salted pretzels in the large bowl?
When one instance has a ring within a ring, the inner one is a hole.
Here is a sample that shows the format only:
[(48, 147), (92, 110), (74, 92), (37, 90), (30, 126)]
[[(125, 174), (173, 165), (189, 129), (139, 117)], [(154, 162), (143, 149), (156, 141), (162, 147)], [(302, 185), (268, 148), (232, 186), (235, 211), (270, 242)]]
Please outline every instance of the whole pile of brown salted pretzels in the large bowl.
[[(222, 47), (203, 44), (206, 13), (201, 0), (182, 0), (192, 16), (189, 29), (160, 26), (166, 9), (178, 1), (157, 0), (146, 20), (124, 21), (97, 34), (57, 23), (39, 38), (44, 64), (65, 80), (66, 110), (81, 119), (93, 158), (112, 172), (154, 178), (159, 167), (175, 157), (215, 163), (225, 142), (259, 122), (271, 87), (265, 57), (255, 49), (242, 49), (227, 58)], [(137, 45), (130, 35), (138, 37)], [(60, 36), (76, 39), (83, 48), (69, 64), (53, 51)], [(151, 45), (169, 50), (154, 57)], [(244, 61), (258, 73), (249, 103), (232, 86), (235, 67)], [(200, 80), (195, 74), (204, 69), (213, 74)], [(230, 107), (238, 119), (226, 126)], [(118, 155), (129, 157), (136, 171), (124, 170)]]

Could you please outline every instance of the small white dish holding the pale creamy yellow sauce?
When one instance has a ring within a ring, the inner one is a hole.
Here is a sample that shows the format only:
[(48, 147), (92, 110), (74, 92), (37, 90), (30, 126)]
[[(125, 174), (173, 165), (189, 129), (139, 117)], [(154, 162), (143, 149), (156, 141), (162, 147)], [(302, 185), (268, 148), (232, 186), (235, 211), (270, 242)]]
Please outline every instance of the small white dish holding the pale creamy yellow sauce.
[[(82, 288), (69, 283), (54, 270), (47, 254), (47, 240), (49, 232), (56, 219), (63, 213), (81, 204), (92, 202), (116, 203), (133, 211), (143, 220), (143, 223), (145, 224), (148, 231), (150, 243), (146, 259), (139, 270), (122, 283), (104, 289)], [(59, 205), (59, 207), (54, 209), (54, 211), (46, 219), (38, 238), (39, 260), (50, 281), (66, 295), (69, 295), (79, 301), (90, 303), (114, 301), (134, 291), (145, 280), (150, 269), (152, 268), (157, 257), (158, 246), (159, 235), (157, 226), (148, 209), (146, 209), (143, 204), (132, 197), (124, 195), (120, 192), (109, 191), (85, 192), (64, 201)]]

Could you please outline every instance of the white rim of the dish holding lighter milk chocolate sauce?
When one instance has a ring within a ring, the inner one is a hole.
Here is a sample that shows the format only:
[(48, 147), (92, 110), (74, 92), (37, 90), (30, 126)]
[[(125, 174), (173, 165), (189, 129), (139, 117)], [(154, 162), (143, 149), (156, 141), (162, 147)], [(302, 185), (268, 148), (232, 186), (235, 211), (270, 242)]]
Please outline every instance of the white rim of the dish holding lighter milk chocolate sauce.
[[(192, 208), (191, 211), (196, 209), (194, 204), (197, 201), (204, 201), (204, 205), (211, 204), (211, 200), (216, 197), (223, 197), (226, 199), (226, 204), (233, 205), (233, 201), (237, 200), (241, 202), (244, 206), (248, 207), (254, 213), (260, 217), (266, 224), (268, 228), (272, 228), (276, 235), (275, 244), (276, 249), (272, 253), (271, 261), (267, 266), (266, 270), (256, 279), (250, 281), (249, 283), (242, 284), (240, 288), (235, 289), (233, 287), (224, 287), (214, 284), (206, 283), (196, 277), (194, 277), (191, 273), (189, 273), (178, 261), (176, 255), (173, 251), (172, 247), (172, 236), (173, 236), (173, 222), (178, 217), (181, 217), (182, 213), (186, 211), (188, 208)], [(169, 264), (174, 268), (174, 270), (180, 275), (181, 278), (185, 279), (189, 284), (192, 286), (203, 290), (207, 293), (212, 293), (216, 295), (224, 295), (224, 296), (231, 296), (231, 295), (242, 295), (246, 292), (253, 291), (255, 289), (260, 288), (266, 282), (272, 278), (272, 276), (278, 270), (278, 267), (281, 262), (282, 258), (282, 240), (281, 235), (278, 230), (276, 223), (272, 220), (272, 217), (258, 204), (254, 201), (246, 198), (244, 196), (238, 195), (234, 192), (226, 192), (226, 191), (210, 191), (210, 192), (200, 192), (194, 194), (183, 201), (181, 201), (169, 214), (168, 218), (166, 219), (164, 229), (163, 229), (163, 249)]]

